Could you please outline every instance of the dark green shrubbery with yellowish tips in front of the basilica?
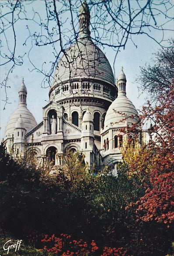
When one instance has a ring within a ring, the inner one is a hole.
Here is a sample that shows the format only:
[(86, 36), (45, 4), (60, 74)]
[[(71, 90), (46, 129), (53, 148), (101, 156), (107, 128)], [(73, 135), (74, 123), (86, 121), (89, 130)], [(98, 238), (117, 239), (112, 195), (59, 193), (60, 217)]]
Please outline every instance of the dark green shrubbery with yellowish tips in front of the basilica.
[[(137, 175), (128, 177), (125, 162), (117, 177), (110, 175), (108, 167), (98, 174), (89, 171), (78, 152), (64, 163), (56, 176), (43, 176), (39, 169), (14, 162), (4, 145), (0, 146), (3, 232), (24, 240), (34, 237), (32, 248), (41, 248), (36, 234), (66, 233), (95, 240), (99, 248), (126, 248), (133, 256), (163, 256), (167, 252), (171, 230), (160, 223), (137, 222), (136, 208), (131, 205), (144, 195), (146, 185)], [(24, 255), (40, 255), (29, 247), (24, 251)]]

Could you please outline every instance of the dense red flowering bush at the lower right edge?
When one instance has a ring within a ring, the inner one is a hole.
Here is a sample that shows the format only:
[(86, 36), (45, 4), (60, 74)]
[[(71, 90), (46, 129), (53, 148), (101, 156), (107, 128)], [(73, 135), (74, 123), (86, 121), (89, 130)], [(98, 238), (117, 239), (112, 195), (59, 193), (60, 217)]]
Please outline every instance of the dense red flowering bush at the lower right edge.
[(154, 219), (169, 225), (174, 221), (174, 173), (160, 174), (151, 182), (153, 188), (137, 202), (136, 212), (143, 221)]

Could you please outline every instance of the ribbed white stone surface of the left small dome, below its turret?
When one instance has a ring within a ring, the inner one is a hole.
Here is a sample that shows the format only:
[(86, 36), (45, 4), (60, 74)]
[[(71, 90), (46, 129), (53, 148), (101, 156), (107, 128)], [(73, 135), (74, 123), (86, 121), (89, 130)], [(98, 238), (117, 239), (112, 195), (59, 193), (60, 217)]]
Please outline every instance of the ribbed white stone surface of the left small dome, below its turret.
[[(7, 122), (5, 136), (8, 134), (13, 134), (14, 129), (17, 128), (16, 125), (18, 120), (20, 120), (20, 115), (22, 122), (24, 123), (24, 127), (27, 131), (31, 130), (33, 127), (37, 125), (37, 122), (32, 115), (32, 113), (26, 107), (19, 106), (14, 113), (11, 115), (10, 119)], [(18, 127), (19, 128), (19, 127)]]

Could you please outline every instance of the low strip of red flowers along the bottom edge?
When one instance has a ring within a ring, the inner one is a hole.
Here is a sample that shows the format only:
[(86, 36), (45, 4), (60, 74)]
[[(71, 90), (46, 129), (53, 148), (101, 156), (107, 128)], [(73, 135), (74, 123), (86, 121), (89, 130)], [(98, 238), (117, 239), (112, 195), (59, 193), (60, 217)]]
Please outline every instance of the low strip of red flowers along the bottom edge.
[[(68, 256), (68, 255), (78, 255), (78, 256), (86, 256), (90, 253), (90, 255), (99, 255), (98, 246), (96, 245), (95, 241), (92, 240), (91, 243), (87, 243), (80, 240), (72, 240), (71, 235), (67, 234), (60, 234), (60, 237), (56, 237), (53, 234), (49, 237), (47, 234), (41, 240), (45, 245), (42, 251), (50, 252), (51, 255), (61, 255), (61, 256)], [(48, 244), (48, 245), (46, 245)], [(127, 251), (123, 248), (110, 248), (105, 247), (103, 249), (103, 254), (101, 256), (128, 256), (126, 254)]]

